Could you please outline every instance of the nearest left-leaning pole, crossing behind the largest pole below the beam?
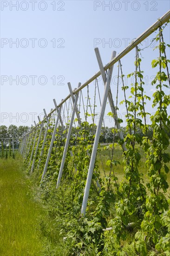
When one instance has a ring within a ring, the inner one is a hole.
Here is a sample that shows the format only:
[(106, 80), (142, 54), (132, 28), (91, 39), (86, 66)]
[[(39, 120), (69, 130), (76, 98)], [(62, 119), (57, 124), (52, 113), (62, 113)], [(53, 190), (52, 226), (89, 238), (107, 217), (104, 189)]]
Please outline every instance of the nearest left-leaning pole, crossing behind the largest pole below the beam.
[[(104, 66), (103, 66), (103, 63), (102, 63), (102, 59), (101, 59), (101, 56), (100, 56), (100, 53), (99, 53), (99, 49), (98, 48), (95, 48), (95, 53), (96, 53), (96, 57), (97, 57), (97, 60), (98, 60), (98, 66), (100, 68), (100, 72), (102, 74), (102, 78), (103, 78), (103, 81), (104, 81), (104, 84), (106, 83), (106, 74), (105, 74), (105, 69), (104, 69)], [(111, 106), (111, 112), (113, 113), (113, 118), (116, 122), (116, 127), (118, 129), (118, 135), (119, 135), (119, 138), (121, 140), (124, 139), (124, 135), (122, 133), (122, 129), (121, 129), (121, 126), (120, 126), (120, 123), (118, 122), (118, 115), (117, 115), (117, 112), (116, 112), (116, 109), (115, 109), (115, 106), (114, 106), (114, 101), (113, 101), (113, 98), (112, 98), (112, 95), (111, 95), (111, 88), (109, 88), (109, 92), (108, 92), (108, 100), (109, 100), (109, 104)], [(125, 143), (122, 145), (122, 148), (124, 151), (127, 150), (126, 146), (125, 146)]]

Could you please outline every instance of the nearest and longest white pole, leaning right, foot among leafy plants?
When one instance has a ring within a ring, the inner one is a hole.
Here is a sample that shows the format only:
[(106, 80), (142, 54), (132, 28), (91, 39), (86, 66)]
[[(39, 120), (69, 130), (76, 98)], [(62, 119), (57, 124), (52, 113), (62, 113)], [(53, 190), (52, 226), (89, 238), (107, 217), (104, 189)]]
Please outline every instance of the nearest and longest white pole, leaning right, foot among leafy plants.
[[(111, 59), (113, 59), (115, 56), (116, 56), (116, 52), (113, 51), (112, 55), (111, 55)], [(89, 170), (88, 170), (88, 175), (87, 175), (87, 180), (86, 180), (86, 184), (85, 184), (85, 193), (84, 193), (82, 208), (81, 208), (81, 213), (84, 216), (85, 216), (87, 201), (88, 201), (88, 197), (89, 197), (89, 191), (90, 191), (91, 182), (92, 182), (94, 165), (95, 165), (95, 161), (96, 161), (96, 155), (97, 155), (97, 150), (98, 150), (98, 141), (99, 141), (99, 137), (100, 137), (100, 133), (101, 133), (103, 118), (105, 115), (105, 106), (106, 106), (109, 87), (110, 87), (110, 83), (111, 83), (112, 71), (113, 71), (113, 66), (111, 66), (109, 68), (108, 75), (107, 75), (108, 79), (106, 79), (105, 91), (104, 91), (102, 105), (101, 105), (101, 109), (100, 109), (100, 118), (98, 120), (98, 126), (97, 126), (97, 130), (96, 130), (96, 135), (95, 135), (95, 139), (94, 139), (92, 155), (91, 155), (91, 160), (90, 160), (90, 165), (89, 165)]]

